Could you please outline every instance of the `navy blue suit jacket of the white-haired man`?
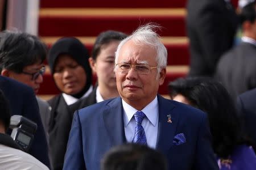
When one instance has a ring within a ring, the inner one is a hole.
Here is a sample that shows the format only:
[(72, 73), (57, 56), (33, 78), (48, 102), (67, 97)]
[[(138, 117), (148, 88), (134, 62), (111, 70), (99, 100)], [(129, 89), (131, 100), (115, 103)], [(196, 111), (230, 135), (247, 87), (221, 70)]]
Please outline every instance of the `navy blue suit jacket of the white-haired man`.
[[(170, 169), (218, 169), (207, 114), (159, 95), (158, 104), (156, 149), (166, 155)], [(172, 123), (167, 122), (169, 114)], [(175, 145), (180, 133), (187, 142)], [(105, 152), (125, 142), (121, 97), (80, 109), (73, 118), (63, 169), (100, 169)]]

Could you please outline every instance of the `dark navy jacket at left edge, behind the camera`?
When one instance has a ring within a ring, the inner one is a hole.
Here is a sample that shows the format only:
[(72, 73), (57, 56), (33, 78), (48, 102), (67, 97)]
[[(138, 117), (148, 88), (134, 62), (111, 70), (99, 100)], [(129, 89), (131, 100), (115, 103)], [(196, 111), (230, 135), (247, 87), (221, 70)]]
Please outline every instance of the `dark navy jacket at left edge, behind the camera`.
[(44, 133), (34, 91), (25, 84), (5, 76), (0, 76), (0, 89), (9, 101), (11, 115), (22, 115), (38, 125), (28, 154), (50, 167), (46, 134)]

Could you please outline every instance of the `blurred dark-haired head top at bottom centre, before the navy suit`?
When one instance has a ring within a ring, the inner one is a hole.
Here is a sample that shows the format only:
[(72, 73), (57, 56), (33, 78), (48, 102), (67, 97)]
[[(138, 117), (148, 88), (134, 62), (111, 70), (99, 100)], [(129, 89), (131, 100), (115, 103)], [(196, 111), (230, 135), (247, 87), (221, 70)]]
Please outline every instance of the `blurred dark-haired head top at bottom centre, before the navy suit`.
[(101, 160), (101, 170), (166, 170), (166, 158), (144, 145), (127, 143), (113, 147)]

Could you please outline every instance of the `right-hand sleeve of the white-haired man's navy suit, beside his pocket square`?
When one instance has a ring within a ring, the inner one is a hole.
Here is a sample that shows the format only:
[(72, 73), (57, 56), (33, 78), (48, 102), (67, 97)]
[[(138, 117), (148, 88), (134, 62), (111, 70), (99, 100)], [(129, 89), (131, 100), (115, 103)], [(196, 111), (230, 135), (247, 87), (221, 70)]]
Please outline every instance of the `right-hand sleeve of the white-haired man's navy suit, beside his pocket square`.
[(195, 169), (219, 169), (212, 149), (211, 139), (207, 114), (204, 113), (197, 139)]

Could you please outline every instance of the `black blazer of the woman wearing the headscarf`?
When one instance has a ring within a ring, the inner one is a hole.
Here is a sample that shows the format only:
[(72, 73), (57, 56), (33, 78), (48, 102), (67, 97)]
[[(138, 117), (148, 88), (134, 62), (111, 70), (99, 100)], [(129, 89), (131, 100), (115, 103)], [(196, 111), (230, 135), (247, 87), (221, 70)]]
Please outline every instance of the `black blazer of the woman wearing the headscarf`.
[(52, 167), (59, 170), (63, 169), (73, 113), (78, 109), (96, 103), (96, 88), (88, 97), (71, 105), (67, 105), (61, 94), (48, 100), (48, 103), (52, 107), (49, 121), (49, 149), (52, 156)]

